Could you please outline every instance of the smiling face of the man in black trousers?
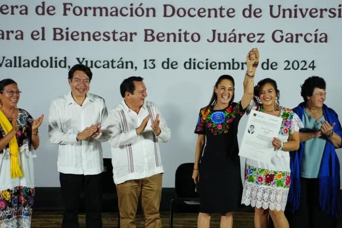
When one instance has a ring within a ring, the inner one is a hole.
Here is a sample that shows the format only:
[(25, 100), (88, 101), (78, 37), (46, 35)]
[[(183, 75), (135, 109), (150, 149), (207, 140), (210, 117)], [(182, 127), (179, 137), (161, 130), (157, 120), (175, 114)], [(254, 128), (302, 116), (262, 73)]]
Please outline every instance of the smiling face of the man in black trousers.
[(90, 80), (85, 72), (77, 70), (74, 72), (72, 79), (69, 79), (69, 85), (74, 99), (85, 98), (86, 93), (89, 91)]

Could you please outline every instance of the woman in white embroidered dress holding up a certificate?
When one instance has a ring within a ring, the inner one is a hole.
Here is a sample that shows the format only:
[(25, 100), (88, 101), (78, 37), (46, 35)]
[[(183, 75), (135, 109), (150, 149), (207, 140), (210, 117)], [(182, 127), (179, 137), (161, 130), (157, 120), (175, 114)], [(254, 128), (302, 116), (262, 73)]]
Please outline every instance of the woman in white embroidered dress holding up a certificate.
[(245, 183), (242, 203), (255, 207), (256, 228), (268, 228), (268, 215), (276, 228), (288, 228), (284, 210), (290, 186), (290, 155), (288, 151), (299, 147), (299, 127), (301, 121), (292, 110), (279, 105), (277, 83), (269, 78), (257, 83), (254, 101), (248, 109), (279, 116), (282, 125), (274, 147), (271, 163), (266, 164), (246, 159)]

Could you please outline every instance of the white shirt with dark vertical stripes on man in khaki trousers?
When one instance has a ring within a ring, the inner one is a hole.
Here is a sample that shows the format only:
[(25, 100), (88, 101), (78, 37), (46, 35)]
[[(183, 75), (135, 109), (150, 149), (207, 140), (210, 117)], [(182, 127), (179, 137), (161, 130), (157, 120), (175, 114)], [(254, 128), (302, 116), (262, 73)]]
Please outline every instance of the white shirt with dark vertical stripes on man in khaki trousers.
[[(151, 119), (137, 135), (136, 128), (148, 114), (152, 119), (159, 114), (159, 136), (152, 132)], [(146, 101), (137, 114), (122, 101), (109, 112), (105, 126), (111, 143), (115, 184), (164, 172), (158, 142), (168, 142), (171, 130), (155, 104)]]

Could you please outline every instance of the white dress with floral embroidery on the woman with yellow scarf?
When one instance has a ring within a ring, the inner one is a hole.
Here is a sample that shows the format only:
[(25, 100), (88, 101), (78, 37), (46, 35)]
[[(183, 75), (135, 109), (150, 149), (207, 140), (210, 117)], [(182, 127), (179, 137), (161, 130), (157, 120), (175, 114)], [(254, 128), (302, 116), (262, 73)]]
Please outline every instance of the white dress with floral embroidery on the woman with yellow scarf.
[[(0, 228), (30, 228), (34, 198), (33, 158), (31, 146), (31, 122), (27, 111), (19, 109), (19, 162), (23, 177), (11, 178), (11, 156), (8, 144), (0, 150)], [(0, 138), (5, 133), (0, 126)]]

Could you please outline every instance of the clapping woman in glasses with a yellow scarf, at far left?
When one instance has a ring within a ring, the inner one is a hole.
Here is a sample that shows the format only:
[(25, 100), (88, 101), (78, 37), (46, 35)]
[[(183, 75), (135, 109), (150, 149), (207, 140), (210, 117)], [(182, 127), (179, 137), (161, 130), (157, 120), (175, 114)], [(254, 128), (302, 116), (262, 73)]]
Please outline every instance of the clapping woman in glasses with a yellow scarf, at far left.
[(0, 227), (29, 228), (31, 223), (33, 150), (44, 115), (34, 120), (17, 108), (20, 93), (12, 79), (0, 81)]

